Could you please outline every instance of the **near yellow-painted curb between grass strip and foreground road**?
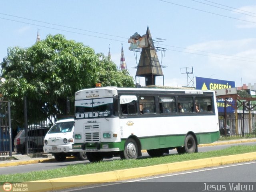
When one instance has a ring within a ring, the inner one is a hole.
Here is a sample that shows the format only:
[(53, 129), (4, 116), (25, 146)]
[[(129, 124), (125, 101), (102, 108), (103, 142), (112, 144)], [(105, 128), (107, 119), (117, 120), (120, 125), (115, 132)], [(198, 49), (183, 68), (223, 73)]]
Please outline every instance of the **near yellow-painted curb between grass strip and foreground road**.
[[(175, 162), (169, 164), (161, 164), (140, 168), (132, 168), (125, 170), (116, 170), (103, 173), (70, 176), (64, 178), (55, 178), (49, 180), (40, 180), (33, 182), (26, 182), (29, 187), (29, 191), (44, 192), (50, 190), (60, 190), (64, 188), (71, 188), (77, 186), (86, 186), (95, 183), (102, 182), (116, 182), (132, 178), (140, 178), (158, 174), (174, 173), (186, 170), (193, 170), (198, 168), (206, 168), (212, 166), (220, 166), (226, 164), (248, 162), (256, 160), (256, 152), (229, 155), (214, 158), (205, 158), (184, 162)], [(43, 184), (38, 184), (39, 182), (44, 182)]]

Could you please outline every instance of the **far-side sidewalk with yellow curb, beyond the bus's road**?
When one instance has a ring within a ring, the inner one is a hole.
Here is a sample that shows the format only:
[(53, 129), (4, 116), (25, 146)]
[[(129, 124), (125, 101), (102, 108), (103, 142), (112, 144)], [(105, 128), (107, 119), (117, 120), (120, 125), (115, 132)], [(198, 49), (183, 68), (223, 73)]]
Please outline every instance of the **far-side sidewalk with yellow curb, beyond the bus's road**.
[[(226, 144), (238, 144), (238, 143), (248, 143), (248, 142), (256, 142), (256, 138), (250, 139), (240, 139), (240, 140), (227, 140), (227, 141), (217, 141), (210, 144), (200, 144), (198, 147), (205, 146), (217, 146), (217, 145), (226, 145)], [(146, 152), (146, 150), (142, 151)], [(73, 158), (73, 157), (71, 157)], [(25, 164), (36, 164), (42, 162), (53, 162), (56, 161), (51, 154), (37, 153), (37, 154), (12, 154), (10, 156), (0, 156), (0, 167), (7, 166), (17, 166), (17, 165), (25, 165)]]

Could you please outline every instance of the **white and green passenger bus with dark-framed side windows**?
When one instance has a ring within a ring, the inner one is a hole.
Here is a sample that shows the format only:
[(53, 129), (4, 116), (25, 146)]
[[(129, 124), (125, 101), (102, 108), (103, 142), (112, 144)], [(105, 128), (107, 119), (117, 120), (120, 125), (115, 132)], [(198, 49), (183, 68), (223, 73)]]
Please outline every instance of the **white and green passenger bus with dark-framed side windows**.
[[(199, 110), (196, 110), (199, 109)], [(197, 152), (220, 137), (213, 91), (100, 87), (75, 94), (73, 148), (90, 162)]]

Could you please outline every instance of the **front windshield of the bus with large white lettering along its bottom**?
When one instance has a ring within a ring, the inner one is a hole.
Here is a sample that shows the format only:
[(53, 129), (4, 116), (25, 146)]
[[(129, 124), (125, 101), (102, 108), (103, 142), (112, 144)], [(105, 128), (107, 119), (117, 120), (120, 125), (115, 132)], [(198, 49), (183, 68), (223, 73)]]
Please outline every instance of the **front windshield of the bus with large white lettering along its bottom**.
[(113, 116), (113, 98), (76, 100), (76, 118), (106, 118)]

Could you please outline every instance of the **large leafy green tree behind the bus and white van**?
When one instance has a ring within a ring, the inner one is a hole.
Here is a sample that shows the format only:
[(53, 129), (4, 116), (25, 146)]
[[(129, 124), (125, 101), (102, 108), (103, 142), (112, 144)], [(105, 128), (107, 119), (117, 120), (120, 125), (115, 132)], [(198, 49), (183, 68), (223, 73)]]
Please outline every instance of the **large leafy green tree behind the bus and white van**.
[(0, 91), (12, 103), (12, 119), (23, 124), (23, 100), (28, 103), (28, 122), (59, 118), (66, 114), (67, 98), (83, 88), (134, 87), (127, 70), (119, 71), (104, 54), (57, 34), (47, 36), (29, 48), (8, 48), (0, 64)]

